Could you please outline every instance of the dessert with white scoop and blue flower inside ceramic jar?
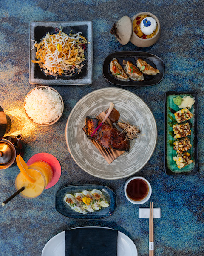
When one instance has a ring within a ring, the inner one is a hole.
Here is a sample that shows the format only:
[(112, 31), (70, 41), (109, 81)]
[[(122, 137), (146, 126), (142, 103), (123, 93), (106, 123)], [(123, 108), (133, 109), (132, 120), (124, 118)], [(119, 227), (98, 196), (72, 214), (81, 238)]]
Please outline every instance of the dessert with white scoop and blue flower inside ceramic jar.
[(149, 39), (156, 35), (158, 25), (153, 17), (140, 15), (133, 20), (133, 32), (142, 39)]

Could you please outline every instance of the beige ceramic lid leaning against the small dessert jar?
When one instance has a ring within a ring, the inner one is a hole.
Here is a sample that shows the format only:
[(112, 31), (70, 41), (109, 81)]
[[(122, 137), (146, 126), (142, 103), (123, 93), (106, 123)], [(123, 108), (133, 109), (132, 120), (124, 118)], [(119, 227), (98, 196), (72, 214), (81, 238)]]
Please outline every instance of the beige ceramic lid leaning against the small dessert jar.
[(119, 41), (119, 43), (125, 45), (130, 41), (132, 31), (133, 31), (132, 26), (133, 26), (132, 21), (128, 16), (123, 16), (116, 23), (116, 33), (119, 35), (119, 38), (116, 37), (116, 35), (115, 37)]

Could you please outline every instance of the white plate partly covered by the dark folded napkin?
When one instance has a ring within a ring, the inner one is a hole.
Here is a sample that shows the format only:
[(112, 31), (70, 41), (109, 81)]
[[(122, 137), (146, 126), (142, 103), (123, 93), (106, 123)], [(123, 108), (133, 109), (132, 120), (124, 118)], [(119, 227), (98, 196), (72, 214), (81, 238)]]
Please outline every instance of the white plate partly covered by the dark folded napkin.
[[(93, 227), (93, 226), (91, 226)], [(90, 228), (91, 228), (90, 227)], [(96, 227), (96, 226), (95, 226)], [(82, 227), (77, 227), (82, 228)], [(100, 227), (108, 228), (108, 227)], [(42, 256), (65, 256), (65, 231), (51, 238), (42, 250)], [(137, 248), (133, 241), (118, 231), (118, 256), (137, 256)]]

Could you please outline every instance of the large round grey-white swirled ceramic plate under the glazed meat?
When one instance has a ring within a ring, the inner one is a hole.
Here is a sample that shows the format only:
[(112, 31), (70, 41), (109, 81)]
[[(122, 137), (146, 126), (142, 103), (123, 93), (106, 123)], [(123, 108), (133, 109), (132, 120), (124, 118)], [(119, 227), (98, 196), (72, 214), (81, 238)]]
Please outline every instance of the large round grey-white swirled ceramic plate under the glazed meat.
[[(120, 119), (139, 126), (139, 138), (130, 141), (130, 152), (125, 152), (108, 164), (82, 130), (86, 116), (96, 117), (109, 108), (110, 103), (120, 113)], [(66, 125), (66, 142), (71, 157), (90, 175), (116, 180), (129, 177), (150, 160), (156, 146), (156, 122), (147, 104), (136, 94), (120, 88), (95, 90), (77, 102)]]

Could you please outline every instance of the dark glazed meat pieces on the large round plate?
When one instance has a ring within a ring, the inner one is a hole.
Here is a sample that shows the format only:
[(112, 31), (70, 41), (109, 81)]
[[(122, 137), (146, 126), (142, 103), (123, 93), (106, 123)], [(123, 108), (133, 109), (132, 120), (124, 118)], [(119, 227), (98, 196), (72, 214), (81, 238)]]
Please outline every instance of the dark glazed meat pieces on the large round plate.
[(129, 140), (125, 140), (125, 134), (121, 134), (120, 131), (106, 123), (103, 123), (94, 136), (91, 137), (99, 124), (98, 119), (86, 117), (85, 133), (89, 139), (97, 141), (104, 148), (129, 152), (130, 143)]

